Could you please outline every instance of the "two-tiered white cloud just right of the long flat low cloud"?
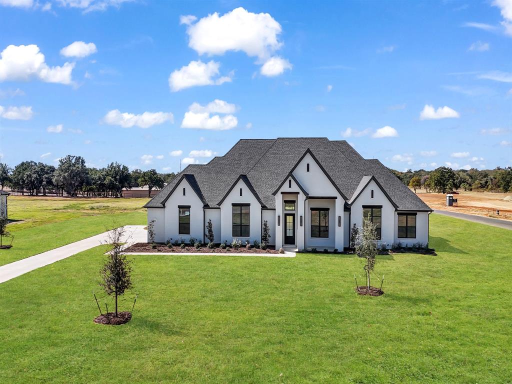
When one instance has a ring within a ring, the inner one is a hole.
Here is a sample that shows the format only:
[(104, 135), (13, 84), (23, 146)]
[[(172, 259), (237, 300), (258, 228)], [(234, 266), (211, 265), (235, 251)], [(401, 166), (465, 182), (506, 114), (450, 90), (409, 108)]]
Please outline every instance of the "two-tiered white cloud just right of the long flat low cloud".
[(224, 116), (210, 116), (210, 113), (225, 114), (228, 113), (225, 111), (234, 112), (233, 108), (236, 107), (223, 100), (215, 100), (205, 106), (195, 102), (188, 107), (188, 112), (185, 112), (185, 116), (181, 122), (181, 127), (215, 131), (233, 129), (238, 125), (238, 119), (236, 116), (232, 114), (226, 114)]

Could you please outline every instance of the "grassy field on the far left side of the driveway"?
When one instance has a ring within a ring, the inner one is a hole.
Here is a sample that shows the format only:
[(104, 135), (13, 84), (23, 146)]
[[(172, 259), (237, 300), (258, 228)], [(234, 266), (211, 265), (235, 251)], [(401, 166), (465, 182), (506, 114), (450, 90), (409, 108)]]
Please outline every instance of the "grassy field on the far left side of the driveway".
[[(0, 250), (0, 265), (70, 244), (111, 229), (144, 224), (148, 199), (72, 199), (9, 196), (7, 226), (13, 247)], [(4, 239), (9, 243), (10, 239)]]

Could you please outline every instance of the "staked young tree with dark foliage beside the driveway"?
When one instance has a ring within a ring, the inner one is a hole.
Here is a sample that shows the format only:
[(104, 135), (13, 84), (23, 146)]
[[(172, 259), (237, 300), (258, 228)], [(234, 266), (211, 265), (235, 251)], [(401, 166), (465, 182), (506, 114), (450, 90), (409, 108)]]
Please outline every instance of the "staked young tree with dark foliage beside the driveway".
[(132, 288), (132, 267), (123, 252), (124, 228), (115, 228), (109, 232), (108, 243), (112, 245), (108, 258), (101, 269), (100, 286), (106, 294), (114, 295), (117, 316), (117, 298)]

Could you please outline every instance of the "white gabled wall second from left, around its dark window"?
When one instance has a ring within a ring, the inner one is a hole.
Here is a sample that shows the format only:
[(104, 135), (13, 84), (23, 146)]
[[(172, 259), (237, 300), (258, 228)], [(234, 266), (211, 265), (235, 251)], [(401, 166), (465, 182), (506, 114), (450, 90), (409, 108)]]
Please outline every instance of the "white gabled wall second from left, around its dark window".
[[(240, 196), (242, 188), (242, 196)], [(229, 195), (221, 204), (221, 242), (231, 243), (233, 240), (233, 203), (250, 204), (249, 210), (249, 238), (237, 237), (242, 241), (248, 239), (251, 243), (254, 240), (261, 241), (261, 204), (251, 193), (247, 185), (239, 180)]]

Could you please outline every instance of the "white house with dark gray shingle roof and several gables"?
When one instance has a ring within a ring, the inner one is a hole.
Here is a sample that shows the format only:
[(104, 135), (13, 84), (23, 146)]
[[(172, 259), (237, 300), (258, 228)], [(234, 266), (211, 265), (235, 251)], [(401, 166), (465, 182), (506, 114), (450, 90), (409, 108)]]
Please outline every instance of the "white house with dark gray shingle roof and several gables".
[(429, 241), (432, 209), (378, 160), (327, 138), (240, 140), (208, 164), (189, 165), (148, 202), (155, 240), (261, 241), (276, 248), (343, 249), (350, 228), (370, 215), (380, 243)]

